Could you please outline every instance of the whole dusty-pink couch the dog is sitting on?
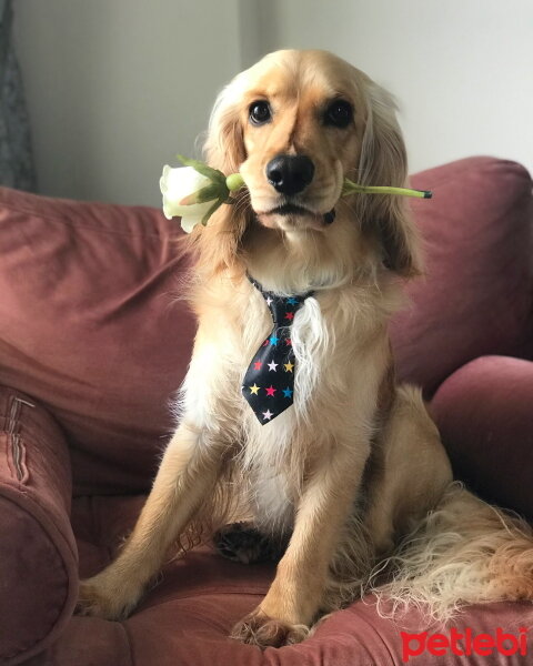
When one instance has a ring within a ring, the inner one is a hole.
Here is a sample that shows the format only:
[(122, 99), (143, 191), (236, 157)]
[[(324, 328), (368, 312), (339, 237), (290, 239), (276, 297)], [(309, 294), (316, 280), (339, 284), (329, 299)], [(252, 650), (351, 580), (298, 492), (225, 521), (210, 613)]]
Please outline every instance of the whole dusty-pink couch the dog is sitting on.
[[(434, 199), (413, 204), (428, 278), (392, 326), (400, 376), (424, 386), (456, 475), (533, 518), (531, 179), (472, 158), (413, 184)], [(194, 331), (174, 297), (180, 233), (158, 210), (0, 189), (0, 664), (403, 664), (401, 627), (371, 599), (296, 646), (228, 639), (273, 568), (210, 548), (168, 565), (123, 623), (72, 616), (79, 577), (112, 557), (172, 428)], [(532, 607), (510, 603), (453, 624), (491, 635), (532, 625)], [(529, 656), (425, 652), (410, 663), (531, 664), (530, 643)]]

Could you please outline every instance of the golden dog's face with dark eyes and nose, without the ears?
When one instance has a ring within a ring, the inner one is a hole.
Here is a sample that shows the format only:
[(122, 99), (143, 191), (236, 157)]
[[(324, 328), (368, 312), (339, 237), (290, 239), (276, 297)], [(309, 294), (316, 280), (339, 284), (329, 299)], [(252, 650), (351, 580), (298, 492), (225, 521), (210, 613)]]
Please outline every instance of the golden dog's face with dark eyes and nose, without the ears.
[(324, 229), (361, 154), (366, 109), (356, 71), (329, 53), (285, 51), (247, 79), (240, 170), (259, 221), (284, 231)]

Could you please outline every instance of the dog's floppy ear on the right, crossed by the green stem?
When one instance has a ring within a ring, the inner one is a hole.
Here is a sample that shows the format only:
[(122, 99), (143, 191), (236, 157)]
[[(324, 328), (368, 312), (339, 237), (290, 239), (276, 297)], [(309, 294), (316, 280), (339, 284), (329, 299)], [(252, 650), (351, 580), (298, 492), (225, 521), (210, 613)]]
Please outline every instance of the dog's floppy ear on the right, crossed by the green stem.
[[(408, 175), (405, 144), (393, 97), (365, 81), (368, 120), (361, 148), (361, 184), (402, 188)], [(388, 268), (404, 276), (421, 272), (420, 243), (403, 196), (368, 194), (358, 198), (363, 229), (378, 229)]]

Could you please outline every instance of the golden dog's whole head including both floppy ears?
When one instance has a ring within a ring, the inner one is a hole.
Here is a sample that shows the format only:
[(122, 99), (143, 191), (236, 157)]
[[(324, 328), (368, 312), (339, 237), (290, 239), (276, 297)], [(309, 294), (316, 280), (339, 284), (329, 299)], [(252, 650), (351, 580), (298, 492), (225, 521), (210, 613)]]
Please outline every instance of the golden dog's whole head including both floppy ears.
[(343, 60), (324, 51), (278, 51), (238, 74), (217, 100), (205, 152), (224, 173), (240, 171), (249, 192), (225, 223), (219, 213), (220, 246), (234, 252), (252, 224), (320, 240), (341, 224), (340, 214), (379, 244), (386, 268), (418, 272), (414, 232), (400, 198), (341, 199), (345, 176), (396, 186), (406, 178), (391, 95)]

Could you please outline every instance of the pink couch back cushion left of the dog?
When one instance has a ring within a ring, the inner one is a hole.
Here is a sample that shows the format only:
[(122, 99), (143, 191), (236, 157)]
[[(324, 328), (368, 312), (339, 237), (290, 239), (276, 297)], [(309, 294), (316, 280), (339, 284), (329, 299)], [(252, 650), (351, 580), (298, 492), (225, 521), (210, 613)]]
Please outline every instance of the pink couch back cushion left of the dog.
[(179, 225), (148, 208), (0, 188), (0, 384), (53, 413), (74, 493), (145, 490), (194, 323)]

